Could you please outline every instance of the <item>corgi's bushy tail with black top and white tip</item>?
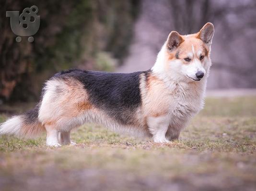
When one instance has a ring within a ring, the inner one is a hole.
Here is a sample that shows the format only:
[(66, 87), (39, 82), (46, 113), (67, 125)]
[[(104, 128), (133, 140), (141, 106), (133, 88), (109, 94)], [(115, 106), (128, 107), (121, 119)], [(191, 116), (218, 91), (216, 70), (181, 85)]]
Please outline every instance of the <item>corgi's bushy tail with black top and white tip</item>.
[(38, 120), (39, 104), (34, 109), (19, 115), (13, 116), (0, 124), (0, 134), (9, 134), (22, 138), (34, 138), (45, 130), (45, 127)]

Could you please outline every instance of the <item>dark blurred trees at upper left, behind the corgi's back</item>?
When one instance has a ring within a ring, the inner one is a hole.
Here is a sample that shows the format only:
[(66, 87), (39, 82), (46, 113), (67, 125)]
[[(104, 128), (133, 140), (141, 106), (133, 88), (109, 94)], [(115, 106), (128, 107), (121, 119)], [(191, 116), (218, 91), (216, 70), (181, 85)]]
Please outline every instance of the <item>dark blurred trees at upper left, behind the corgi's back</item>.
[[(44, 80), (79, 67), (108, 69), (105, 64), (127, 53), (138, 0), (0, 1), (0, 99), (35, 100)], [(40, 28), (30, 43), (16, 42), (6, 11), (36, 5)], [(108, 52), (108, 53), (105, 53)], [(108, 56), (103, 56), (103, 55)], [(108, 61), (103, 61), (103, 58)]]

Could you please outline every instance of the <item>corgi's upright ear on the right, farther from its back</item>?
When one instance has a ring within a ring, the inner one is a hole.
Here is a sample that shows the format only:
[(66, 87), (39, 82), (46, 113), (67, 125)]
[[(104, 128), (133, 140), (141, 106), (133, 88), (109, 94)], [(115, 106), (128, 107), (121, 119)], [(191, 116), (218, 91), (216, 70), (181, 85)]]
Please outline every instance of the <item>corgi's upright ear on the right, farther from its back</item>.
[(208, 46), (211, 45), (212, 37), (214, 34), (214, 26), (212, 23), (207, 22), (203, 28), (198, 32), (198, 39), (201, 39)]

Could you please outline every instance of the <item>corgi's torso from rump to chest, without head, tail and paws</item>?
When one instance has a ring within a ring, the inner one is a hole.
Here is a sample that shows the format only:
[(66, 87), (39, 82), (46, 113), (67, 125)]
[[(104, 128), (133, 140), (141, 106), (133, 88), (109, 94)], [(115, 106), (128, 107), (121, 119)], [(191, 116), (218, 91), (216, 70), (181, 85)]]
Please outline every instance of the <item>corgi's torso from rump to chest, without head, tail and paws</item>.
[(202, 96), (193, 87), (167, 87), (150, 70), (132, 74), (69, 70), (47, 81), (38, 118), (60, 131), (89, 122), (139, 137), (152, 137), (165, 123), (166, 137), (173, 139), (201, 107)]

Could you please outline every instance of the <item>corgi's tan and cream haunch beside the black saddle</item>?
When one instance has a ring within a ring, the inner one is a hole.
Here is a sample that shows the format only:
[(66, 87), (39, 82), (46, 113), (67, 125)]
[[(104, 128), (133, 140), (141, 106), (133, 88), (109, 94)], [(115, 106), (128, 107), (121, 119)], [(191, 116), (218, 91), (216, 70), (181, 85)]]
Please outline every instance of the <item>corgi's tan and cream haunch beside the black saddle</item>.
[(51, 99), (44, 98), (39, 111), (39, 119), (43, 124), (57, 124), (63, 118), (78, 117), (83, 111), (92, 108), (83, 85), (77, 80), (67, 78), (57, 81), (58, 85), (53, 88), (50, 87), (52, 83), (48, 82), (49, 85), (46, 87), (46, 94), (50, 94)]

